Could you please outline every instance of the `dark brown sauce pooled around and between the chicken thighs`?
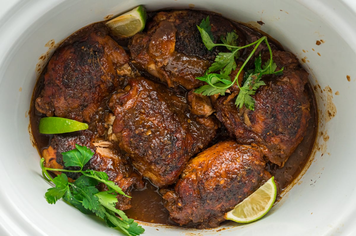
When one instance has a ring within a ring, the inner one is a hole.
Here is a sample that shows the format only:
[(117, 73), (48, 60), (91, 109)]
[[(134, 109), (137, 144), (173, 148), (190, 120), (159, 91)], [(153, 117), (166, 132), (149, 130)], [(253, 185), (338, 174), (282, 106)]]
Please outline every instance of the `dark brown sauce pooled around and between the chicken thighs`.
[[(149, 13), (148, 17), (151, 18), (154, 13)], [(260, 32), (256, 32), (253, 29), (250, 29), (243, 24), (234, 22), (234, 25), (239, 29), (239, 31), (243, 32), (245, 37), (250, 38), (250, 40), (255, 41), (256, 39), (261, 37)], [(91, 24), (80, 31), (74, 33), (69, 38), (67, 38), (59, 49), (63, 48), (66, 45), (70, 45), (73, 42), (88, 37), (91, 32), (104, 32), (108, 33), (111, 38), (113, 38), (119, 45), (121, 45), (125, 50), (128, 50), (128, 40), (117, 38), (114, 35), (111, 35), (109, 29), (105, 26), (104, 22), (94, 23)], [(271, 41), (271, 40), (270, 40)], [(273, 42), (273, 41), (272, 41)], [(281, 46), (276, 43), (270, 43), (273, 48), (281, 49)], [(246, 53), (246, 52), (245, 52)], [(35, 108), (35, 100), (40, 95), (44, 85), (44, 74), (46, 73), (47, 67), (43, 71), (42, 75), (39, 77), (32, 99), (32, 105), (30, 110), (30, 122), (32, 128), (32, 134), (37, 144), (37, 148), (42, 153), (43, 149), (48, 148), (51, 144), (52, 135), (43, 135), (38, 132), (38, 122), (42, 117), (45, 117), (44, 114), (38, 112)], [(140, 71), (146, 77), (150, 77), (147, 75), (146, 72)], [(125, 82), (126, 83), (126, 82)], [(182, 99), (185, 100), (186, 93), (188, 90), (179, 87), (178, 90), (172, 90), (177, 92), (182, 96)], [(306, 135), (304, 136), (302, 142), (299, 146), (295, 149), (289, 159), (286, 161), (282, 168), (279, 168), (278, 165), (272, 164), (268, 162), (266, 164), (266, 170), (274, 176), (274, 180), (277, 182), (279, 187), (279, 193), (284, 190), (292, 181), (301, 173), (305, 164), (309, 160), (309, 156), (312, 152), (312, 148), (314, 145), (315, 137), (316, 137), (316, 128), (317, 128), (317, 113), (316, 113), (316, 103), (313, 94), (313, 90), (310, 87), (310, 84), (307, 83), (305, 86), (305, 92), (308, 94), (309, 103), (310, 103), (310, 119), (308, 121), (308, 127)], [(109, 109), (108, 103), (111, 94), (106, 96), (103, 101), (103, 105), (101, 106), (101, 112), (106, 112)], [(99, 118), (98, 118), (99, 119)], [(95, 122), (94, 122), (95, 123)], [(89, 128), (93, 129), (93, 127)], [(218, 134), (214, 138), (214, 140), (209, 144), (218, 143), (226, 139), (228, 136), (226, 130), (220, 128), (218, 130)], [(135, 170), (136, 171), (136, 170)], [(169, 190), (173, 190), (174, 185), (169, 186)], [(146, 180), (146, 186), (142, 190), (135, 190), (133, 189), (132, 192), (132, 199), (131, 199), (131, 208), (125, 210), (125, 213), (129, 218), (133, 218), (135, 220), (145, 221), (148, 223), (158, 223), (158, 224), (166, 224), (166, 225), (178, 225), (174, 223), (174, 221), (169, 219), (169, 212), (163, 206), (162, 203), (162, 196), (159, 193), (159, 188), (152, 185), (150, 181)]]

